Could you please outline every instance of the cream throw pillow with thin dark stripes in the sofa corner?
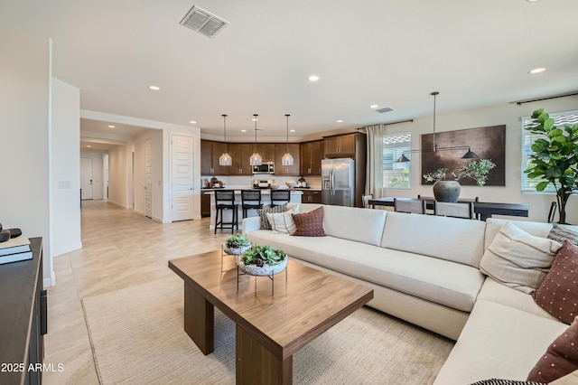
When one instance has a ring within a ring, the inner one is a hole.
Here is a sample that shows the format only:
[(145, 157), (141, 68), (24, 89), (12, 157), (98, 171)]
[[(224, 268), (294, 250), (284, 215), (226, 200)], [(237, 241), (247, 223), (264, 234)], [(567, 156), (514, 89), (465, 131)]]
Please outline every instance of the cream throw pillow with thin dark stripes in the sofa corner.
[(530, 294), (542, 284), (560, 244), (507, 222), (480, 260), (480, 270), (503, 285)]

